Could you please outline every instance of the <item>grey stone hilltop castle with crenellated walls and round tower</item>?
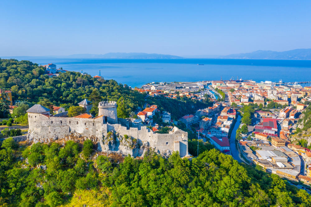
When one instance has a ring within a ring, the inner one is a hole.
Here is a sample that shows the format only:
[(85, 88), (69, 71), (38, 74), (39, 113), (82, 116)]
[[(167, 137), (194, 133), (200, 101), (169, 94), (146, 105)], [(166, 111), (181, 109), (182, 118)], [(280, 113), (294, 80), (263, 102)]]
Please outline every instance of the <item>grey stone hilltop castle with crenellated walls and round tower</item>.
[(84, 137), (97, 143), (98, 150), (107, 153), (137, 157), (152, 149), (163, 156), (169, 156), (173, 151), (179, 151), (181, 157), (188, 156), (187, 132), (174, 127), (169, 134), (157, 134), (133, 123), (130, 118), (118, 118), (117, 103), (114, 101), (102, 101), (98, 108), (99, 114), (94, 118), (87, 113), (68, 117), (67, 111), (51, 115), (50, 109), (36, 104), (27, 110), (27, 140), (51, 142)]

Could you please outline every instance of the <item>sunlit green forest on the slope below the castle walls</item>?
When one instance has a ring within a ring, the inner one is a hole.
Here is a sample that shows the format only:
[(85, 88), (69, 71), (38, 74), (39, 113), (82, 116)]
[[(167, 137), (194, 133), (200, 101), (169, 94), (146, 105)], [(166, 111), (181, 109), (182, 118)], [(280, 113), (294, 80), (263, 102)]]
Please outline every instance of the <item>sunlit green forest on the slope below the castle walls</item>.
[[(189, 144), (194, 149), (196, 142)], [(201, 147), (192, 160), (176, 152), (165, 159), (153, 151), (134, 159), (98, 155), (90, 140), (27, 146), (6, 139), (0, 206), (76, 206), (83, 196), (97, 206), (311, 205), (306, 191), (277, 175), (240, 164), (209, 144)]]

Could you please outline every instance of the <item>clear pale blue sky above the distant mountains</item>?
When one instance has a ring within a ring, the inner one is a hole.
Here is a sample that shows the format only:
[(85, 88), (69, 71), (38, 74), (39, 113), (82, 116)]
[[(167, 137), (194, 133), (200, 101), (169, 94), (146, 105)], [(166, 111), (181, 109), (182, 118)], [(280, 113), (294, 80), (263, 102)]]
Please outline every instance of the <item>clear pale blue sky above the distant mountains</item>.
[(0, 57), (311, 48), (310, 11), (311, 1), (2, 0)]

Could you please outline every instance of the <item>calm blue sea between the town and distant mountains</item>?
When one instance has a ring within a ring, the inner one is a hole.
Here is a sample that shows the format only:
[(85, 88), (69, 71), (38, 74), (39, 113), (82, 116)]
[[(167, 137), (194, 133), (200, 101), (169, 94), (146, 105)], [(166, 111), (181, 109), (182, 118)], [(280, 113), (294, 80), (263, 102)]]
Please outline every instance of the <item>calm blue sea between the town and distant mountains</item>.
[[(64, 70), (87, 72), (132, 87), (152, 81), (243, 80), (311, 81), (311, 60), (251, 59), (57, 59), (36, 58), (38, 64), (55, 63)], [(204, 64), (204, 65), (197, 65)]]

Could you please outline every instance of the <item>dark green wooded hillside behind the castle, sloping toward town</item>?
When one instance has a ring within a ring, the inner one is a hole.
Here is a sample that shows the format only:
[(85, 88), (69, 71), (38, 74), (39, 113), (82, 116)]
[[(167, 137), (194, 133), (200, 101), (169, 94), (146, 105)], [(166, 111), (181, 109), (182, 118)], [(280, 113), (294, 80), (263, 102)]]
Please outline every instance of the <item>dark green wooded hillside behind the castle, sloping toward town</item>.
[[(26, 60), (0, 58), (0, 77), (0, 88), (12, 91), (12, 99), (16, 101), (17, 106), (27, 104), (31, 107), (33, 104), (41, 104), (53, 108), (54, 105), (68, 110), (71, 106), (77, 106), (83, 99), (89, 99), (95, 106), (91, 113), (96, 115), (98, 102), (109, 100), (118, 102), (118, 117), (127, 118), (133, 116), (137, 108), (145, 104), (146, 94), (132, 90), (128, 85), (71, 71), (50, 78), (44, 73), (43, 67)], [(149, 98), (147, 101), (149, 104), (159, 105), (176, 120), (211, 105), (188, 98), (173, 100), (160, 97)], [(7, 117), (9, 114), (7, 111), (5, 113)], [(0, 116), (3, 116), (2, 114), (0, 113)]]

